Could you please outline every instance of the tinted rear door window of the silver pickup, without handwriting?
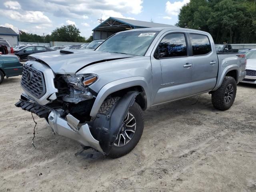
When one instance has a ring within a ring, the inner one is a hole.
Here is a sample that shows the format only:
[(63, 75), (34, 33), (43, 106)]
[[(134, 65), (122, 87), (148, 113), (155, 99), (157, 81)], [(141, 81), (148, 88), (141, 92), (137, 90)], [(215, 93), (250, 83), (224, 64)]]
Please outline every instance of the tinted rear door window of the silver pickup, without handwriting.
[(206, 55), (212, 52), (210, 40), (206, 35), (190, 34), (193, 55)]

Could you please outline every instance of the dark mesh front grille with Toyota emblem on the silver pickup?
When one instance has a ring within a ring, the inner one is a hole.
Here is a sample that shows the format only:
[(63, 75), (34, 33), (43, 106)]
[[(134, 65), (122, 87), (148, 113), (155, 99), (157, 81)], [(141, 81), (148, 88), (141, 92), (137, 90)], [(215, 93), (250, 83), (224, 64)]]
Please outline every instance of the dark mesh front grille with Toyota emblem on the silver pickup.
[(20, 84), (26, 91), (38, 99), (46, 93), (43, 73), (30, 66), (23, 66)]

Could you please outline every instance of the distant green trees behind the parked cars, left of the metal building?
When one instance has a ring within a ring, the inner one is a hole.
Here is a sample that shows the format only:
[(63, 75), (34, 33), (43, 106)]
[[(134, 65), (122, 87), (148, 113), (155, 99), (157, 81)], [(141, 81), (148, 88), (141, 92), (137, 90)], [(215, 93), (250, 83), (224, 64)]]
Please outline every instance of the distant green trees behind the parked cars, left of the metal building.
[[(64, 25), (56, 28), (52, 33), (46, 36), (40, 36), (37, 34), (26, 33), (21, 31), (22, 34), (18, 37), (19, 41), (22, 42), (38, 42), (38, 43), (49, 43), (50, 41), (64, 41), (64, 42), (92, 42), (92, 35), (86, 39), (80, 36), (80, 30), (74, 25)], [(19, 39), (20, 38), (20, 39)]]

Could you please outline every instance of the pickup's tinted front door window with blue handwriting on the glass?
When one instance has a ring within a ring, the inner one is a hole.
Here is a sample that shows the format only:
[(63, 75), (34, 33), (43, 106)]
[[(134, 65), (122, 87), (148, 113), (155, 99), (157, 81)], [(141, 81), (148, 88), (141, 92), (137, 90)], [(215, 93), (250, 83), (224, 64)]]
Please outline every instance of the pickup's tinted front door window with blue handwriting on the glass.
[(159, 58), (187, 56), (187, 44), (184, 33), (166, 35), (159, 44)]

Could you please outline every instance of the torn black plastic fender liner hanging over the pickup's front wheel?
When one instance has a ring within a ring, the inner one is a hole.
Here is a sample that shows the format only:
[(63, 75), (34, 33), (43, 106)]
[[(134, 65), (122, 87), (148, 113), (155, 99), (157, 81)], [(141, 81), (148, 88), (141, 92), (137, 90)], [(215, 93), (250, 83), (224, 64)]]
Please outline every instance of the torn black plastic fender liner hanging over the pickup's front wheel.
[(106, 155), (110, 153), (117, 134), (122, 128), (130, 106), (134, 104), (138, 91), (128, 92), (112, 107), (108, 115), (97, 114), (94, 121), (88, 123), (91, 132), (96, 133), (94, 138), (99, 141), (100, 147)]

